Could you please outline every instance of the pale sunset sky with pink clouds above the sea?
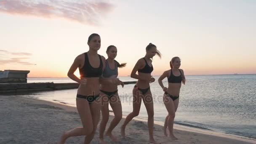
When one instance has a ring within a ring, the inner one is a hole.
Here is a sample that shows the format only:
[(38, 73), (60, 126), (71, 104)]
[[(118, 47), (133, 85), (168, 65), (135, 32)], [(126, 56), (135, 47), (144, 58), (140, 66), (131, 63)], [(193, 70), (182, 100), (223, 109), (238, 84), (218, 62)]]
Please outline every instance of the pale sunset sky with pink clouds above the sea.
[(185, 75), (256, 73), (256, 0), (0, 0), (0, 70), (67, 77), (91, 33), (106, 58), (107, 46), (117, 47), (121, 76), (149, 43), (163, 54), (152, 75), (173, 56)]

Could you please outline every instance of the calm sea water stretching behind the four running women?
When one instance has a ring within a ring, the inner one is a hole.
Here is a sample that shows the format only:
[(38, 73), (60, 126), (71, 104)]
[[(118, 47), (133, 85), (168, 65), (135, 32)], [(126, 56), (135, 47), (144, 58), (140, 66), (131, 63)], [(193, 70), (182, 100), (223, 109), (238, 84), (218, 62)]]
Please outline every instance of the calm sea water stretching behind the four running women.
[[(131, 77), (119, 78), (135, 81)], [(181, 86), (179, 107), (174, 120), (176, 124), (256, 139), (256, 75), (189, 75), (186, 80), (186, 85)], [(28, 78), (27, 82), (74, 81), (69, 78)], [(168, 86), (167, 79), (163, 83)], [(133, 86), (118, 87), (123, 115), (132, 111)], [(163, 104), (163, 91), (157, 81), (150, 84), (150, 89), (154, 97), (155, 120), (163, 122), (168, 114)], [(44, 91), (22, 96), (75, 106), (76, 92), (77, 89)], [(138, 117), (147, 119), (143, 103)]]

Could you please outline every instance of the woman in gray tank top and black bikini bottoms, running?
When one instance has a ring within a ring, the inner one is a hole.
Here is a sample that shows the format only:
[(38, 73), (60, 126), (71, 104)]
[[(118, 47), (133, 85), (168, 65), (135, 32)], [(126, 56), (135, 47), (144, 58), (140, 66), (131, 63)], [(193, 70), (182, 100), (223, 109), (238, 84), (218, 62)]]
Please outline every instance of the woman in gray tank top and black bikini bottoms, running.
[[(118, 75), (118, 67), (125, 67), (126, 63), (119, 64), (115, 57), (117, 56), (117, 48), (114, 45), (107, 47), (106, 67), (102, 76), (104, 78), (116, 78)], [(112, 120), (109, 128), (107, 129), (106, 136), (109, 136), (112, 141), (117, 141), (115, 136), (112, 135), (112, 130), (122, 119), (122, 105), (117, 92), (117, 85), (101, 85), (101, 114), (102, 120), (99, 126), (99, 143), (106, 144), (104, 141), (104, 131), (109, 120), (109, 104), (114, 112), (114, 119)]]

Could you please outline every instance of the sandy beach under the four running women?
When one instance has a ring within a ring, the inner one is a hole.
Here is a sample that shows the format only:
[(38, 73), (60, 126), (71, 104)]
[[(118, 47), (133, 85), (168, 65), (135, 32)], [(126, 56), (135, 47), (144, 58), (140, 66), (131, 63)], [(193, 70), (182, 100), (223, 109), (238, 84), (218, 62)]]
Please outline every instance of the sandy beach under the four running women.
[[(63, 131), (81, 126), (75, 107), (21, 96), (0, 96), (0, 116), (0, 144), (56, 144)], [(112, 118), (110, 116), (109, 123)], [(122, 139), (120, 126), (123, 121), (124, 118), (113, 131), (120, 141), (114, 143), (105, 137), (107, 143), (148, 144), (146, 122), (132, 120), (125, 131), (127, 138)], [(161, 144), (256, 144), (256, 141), (250, 139), (206, 132), (203, 134), (178, 127), (175, 127), (175, 135), (179, 140), (171, 141), (163, 136), (162, 128), (162, 125), (154, 125), (155, 140)], [(98, 137), (97, 130), (91, 144), (98, 144)], [(67, 140), (67, 144), (82, 144), (83, 140), (83, 136), (72, 137)]]

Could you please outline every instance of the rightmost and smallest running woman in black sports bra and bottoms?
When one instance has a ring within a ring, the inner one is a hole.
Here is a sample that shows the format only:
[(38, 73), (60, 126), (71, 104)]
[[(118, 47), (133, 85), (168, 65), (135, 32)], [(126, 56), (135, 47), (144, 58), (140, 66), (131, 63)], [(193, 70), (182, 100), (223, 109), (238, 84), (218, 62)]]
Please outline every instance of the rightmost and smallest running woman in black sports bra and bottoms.
[[(179, 105), (179, 92), (181, 89), (181, 82), (185, 84), (185, 76), (182, 69), (179, 69), (181, 66), (181, 60), (179, 57), (173, 57), (170, 61), (171, 69), (165, 71), (158, 79), (159, 85), (163, 88), (165, 92), (163, 95), (163, 102), (168, 111), (168, 115), (165, 118), (164, 124), (164, 134), (167, 136), (166, 129), (168, 127), (170, 132), (170, 138), (176, 140), (177, 138), (173, 134), (173, 121), (175, 117), (175, 112)], [(162, 80), (168, 78), (168, 88), (163, 86)]]

